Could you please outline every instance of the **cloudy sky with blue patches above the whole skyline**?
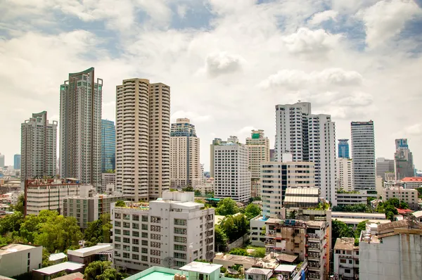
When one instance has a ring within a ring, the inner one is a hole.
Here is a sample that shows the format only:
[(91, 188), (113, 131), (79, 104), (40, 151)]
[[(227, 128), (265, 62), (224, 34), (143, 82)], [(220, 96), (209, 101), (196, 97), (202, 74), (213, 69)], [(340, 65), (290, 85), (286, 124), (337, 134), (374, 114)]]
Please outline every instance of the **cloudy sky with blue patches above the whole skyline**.
[(422, 0), (0, 1), (0, 153), (20, 153), (20, 123), (59, 120), (60, 84), (90, 67), (103, 119), (132, 77), (171, 87), (172, 122), (188, 117), (210, 166), (215, 137), (264, 129), (276, 104), (308, 101), (337, 139), (373, 120), (376, 157), (409, 139), (422, 169)]

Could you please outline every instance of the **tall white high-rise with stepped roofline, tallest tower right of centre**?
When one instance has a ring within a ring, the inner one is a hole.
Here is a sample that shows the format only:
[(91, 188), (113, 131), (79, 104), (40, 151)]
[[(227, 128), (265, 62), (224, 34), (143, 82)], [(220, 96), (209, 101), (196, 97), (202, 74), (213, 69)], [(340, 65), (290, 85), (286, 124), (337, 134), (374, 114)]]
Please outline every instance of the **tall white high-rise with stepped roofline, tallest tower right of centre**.
[(277, 161), (291, 153), (293, 161), (315, 163), (315, 186), (335, 205), (335, 122), (330, 115), (312, 115), (311, 103), (276, 106)]

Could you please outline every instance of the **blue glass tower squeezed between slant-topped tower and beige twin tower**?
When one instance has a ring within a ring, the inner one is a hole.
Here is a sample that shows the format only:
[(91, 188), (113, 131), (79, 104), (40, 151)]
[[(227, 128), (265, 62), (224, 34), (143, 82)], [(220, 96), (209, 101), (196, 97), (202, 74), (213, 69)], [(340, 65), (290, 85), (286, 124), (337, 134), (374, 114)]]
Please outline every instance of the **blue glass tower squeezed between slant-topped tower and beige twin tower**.
[(111, 120), (101, 120), (101, 172), (116, 169), (116, 128)]

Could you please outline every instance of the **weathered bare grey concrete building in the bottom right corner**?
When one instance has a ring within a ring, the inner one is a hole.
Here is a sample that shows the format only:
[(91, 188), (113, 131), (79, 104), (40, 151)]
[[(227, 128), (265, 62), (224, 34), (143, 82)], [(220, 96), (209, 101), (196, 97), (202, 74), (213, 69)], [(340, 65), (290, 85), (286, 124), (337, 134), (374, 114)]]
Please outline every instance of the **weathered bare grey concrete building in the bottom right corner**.
[(366, 225), (359, 238), (360, 280), (421, 279), (422, 230), (409, 219)]

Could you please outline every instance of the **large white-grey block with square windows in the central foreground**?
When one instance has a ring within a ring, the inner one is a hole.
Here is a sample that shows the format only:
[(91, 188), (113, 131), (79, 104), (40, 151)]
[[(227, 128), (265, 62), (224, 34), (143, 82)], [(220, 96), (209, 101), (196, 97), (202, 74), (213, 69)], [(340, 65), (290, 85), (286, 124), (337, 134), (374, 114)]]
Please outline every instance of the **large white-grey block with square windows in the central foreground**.
[(193, 201), (193, 192), (165, 191), (149, 206), (115, 207), (113, 203), (113, 265), (176, 269), (214, 252), (215, 210)]

